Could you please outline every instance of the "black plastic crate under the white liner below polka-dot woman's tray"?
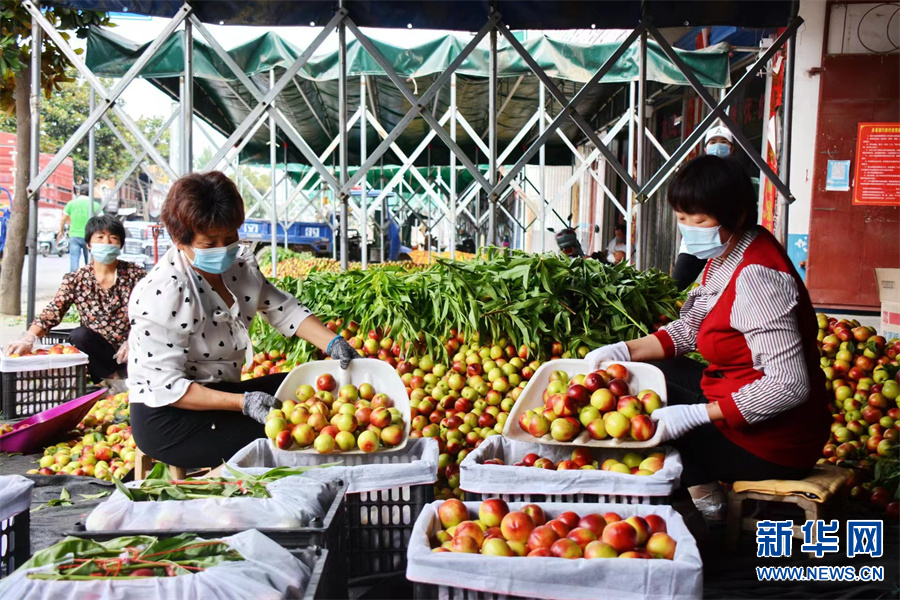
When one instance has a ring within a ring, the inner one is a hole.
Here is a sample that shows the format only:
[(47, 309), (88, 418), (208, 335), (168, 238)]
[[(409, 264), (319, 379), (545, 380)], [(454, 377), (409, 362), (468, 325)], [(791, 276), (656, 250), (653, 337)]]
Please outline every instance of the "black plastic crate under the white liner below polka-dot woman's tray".
[(406, 549), (434, 484), (347, 494), (347, 563), (351, 584), (405, 576)]

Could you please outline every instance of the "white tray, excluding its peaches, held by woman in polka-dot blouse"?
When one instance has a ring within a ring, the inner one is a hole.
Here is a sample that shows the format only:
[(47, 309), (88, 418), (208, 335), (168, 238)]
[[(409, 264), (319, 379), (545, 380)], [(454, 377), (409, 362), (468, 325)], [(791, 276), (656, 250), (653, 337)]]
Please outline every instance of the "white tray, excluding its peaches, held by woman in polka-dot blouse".
[[(315, 388), (316, 379), (326, 373), (331, 374), (337, 382), (337, 389), (335, 389), (334, 394), (335, 399), (337, 398), (337, 390), (340, 390), (341, 386), (347, 384), (359, 387), (364, 383), (369, 383), (375, 388), (376, 393), (387, 394), (394, 401), (394, 408), (403, 415), (403, 440), (396, 446), (380, 448), (377, 452), (394, 452), (406, 447), (406, 442), (409, 439), (409, 425), (412, 421), (409, 396), (406, 394), (406, 386), (403, 384), (400, 376), (397, 375), (397, 371), (386, 362), (372, 358), (359, 358), (350, 361), (350, 366), (346, 370), (341, 369), (340, 363), (336, 360), (315, 360), (304, 363), (288, 373), (288, 376), (285, 377), (281, 386), (279, 386), (275, 397), (281, 401), (296, 400), (298, 387), (308, 384)], [(269, 443), (272, 444), (272, 440), (269, 440)], [(292, 452), (318, 454), (311, 446), (304, 450), (292, 450)], [(366, 454), (366, 452), (357, 448), (346, 452), (334, 453), (335, 456), (346, 454)]]

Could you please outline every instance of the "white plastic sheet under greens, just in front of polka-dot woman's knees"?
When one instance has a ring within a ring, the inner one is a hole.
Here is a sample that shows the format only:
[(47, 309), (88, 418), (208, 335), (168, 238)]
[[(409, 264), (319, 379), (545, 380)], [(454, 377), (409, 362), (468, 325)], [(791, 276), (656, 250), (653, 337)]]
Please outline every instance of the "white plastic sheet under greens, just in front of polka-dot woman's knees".
[[(141, 482), (128, 484), (138, 487)], [(305, 527), (323, 518), (333, 494), (325, 483), (285, 477), (268, 484), (271, 498), (203, 498), (133, 502), (116, 490), (85, 521), (88, 531), (191, 531)]]

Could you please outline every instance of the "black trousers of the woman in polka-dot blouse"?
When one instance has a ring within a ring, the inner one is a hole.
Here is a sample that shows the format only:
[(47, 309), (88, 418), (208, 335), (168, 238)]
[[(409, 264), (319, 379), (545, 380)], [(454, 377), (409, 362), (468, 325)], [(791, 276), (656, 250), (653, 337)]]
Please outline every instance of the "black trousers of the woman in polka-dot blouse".
[[(275, 395), (286, 373), (246, 381), (204, 383), (221, 392)], [(174, 406), (131, 404), (131, 432), (141, 452), (176, 467), (217, 467), (253, 440), (265, 427), (231, 410), (185, 410)]]

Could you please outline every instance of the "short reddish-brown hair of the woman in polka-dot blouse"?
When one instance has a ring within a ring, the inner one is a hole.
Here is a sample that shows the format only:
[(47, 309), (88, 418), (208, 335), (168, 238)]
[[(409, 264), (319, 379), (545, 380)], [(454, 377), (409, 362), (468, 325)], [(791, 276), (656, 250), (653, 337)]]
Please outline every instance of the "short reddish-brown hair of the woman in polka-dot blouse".
[(190, 244), (197, 233), (240, 227), (244, 199), (221, 171), (191, 173), (172, 184), (160, 220), (176, 243)]

